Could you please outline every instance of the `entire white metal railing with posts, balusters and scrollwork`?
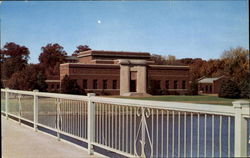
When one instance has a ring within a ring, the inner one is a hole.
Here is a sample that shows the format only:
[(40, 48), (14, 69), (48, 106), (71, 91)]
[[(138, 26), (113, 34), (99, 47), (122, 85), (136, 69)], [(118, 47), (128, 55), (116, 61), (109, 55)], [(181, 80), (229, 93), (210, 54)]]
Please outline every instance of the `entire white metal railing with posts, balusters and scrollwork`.
[(7, 119), (83, 141), (89, 154), (96, 146), (127, 157), (233, 157), (247, 156), (250, 147), (247, 101), (221, 106), (1, 89), (1, 103)]

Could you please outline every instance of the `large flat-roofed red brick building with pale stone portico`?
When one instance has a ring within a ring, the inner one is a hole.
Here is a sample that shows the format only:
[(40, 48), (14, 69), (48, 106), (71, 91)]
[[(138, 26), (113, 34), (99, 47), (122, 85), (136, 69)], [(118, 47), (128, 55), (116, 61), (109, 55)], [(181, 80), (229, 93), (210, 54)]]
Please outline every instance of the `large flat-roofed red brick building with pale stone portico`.
[(60, 78), (48, 89), (65, 75), (97, 95), (185, 94), (189, 88), (188, 66), (155, 65), (150, 53), (89, 50), (77, 58), (60, 65)]

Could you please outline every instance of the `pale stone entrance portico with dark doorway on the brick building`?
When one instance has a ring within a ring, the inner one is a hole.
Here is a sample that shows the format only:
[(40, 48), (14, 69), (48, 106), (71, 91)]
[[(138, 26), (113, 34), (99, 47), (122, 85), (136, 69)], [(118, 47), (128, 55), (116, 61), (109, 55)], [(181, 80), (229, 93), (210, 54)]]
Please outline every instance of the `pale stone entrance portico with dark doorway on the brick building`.
[[(120, 95), (147, 94), (147, 61), (119, 60), (120, 64)], [(135, 87), (134, 87), (135, 86)], [(133, 92), (136, 90), (136, 92)]]

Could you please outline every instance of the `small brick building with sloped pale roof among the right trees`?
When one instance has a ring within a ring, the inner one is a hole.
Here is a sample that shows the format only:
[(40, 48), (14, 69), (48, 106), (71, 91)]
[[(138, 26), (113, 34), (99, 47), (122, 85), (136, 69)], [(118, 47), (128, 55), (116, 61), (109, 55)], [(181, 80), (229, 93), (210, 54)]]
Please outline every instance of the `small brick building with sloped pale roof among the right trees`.
[(225, 76), (215, 78), (202, 77), (198, 80), (198, 91), (200, 93), (217, 94), (219, 93), (221, 82), (226, 79), (228, 78)]

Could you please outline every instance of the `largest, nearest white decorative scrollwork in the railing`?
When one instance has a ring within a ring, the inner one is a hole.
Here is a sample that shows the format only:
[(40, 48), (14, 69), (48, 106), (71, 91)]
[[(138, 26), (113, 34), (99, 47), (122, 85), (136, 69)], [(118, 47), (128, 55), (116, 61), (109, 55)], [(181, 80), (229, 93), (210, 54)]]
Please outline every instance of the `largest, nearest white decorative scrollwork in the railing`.
[[(148, 125), (147, 125), (147, 121), (146, 121), (146, 118), (150, 117), (151, 111), (149, 108), (141, 107), (141, 108), (137, 109), (136, 114), (137, 114), (137, 116), (141, 116), (141, 120), (140, 120), (139, 128), (138, 128), (138, 131), (136, 134), (136, 139), (134, 142), (135, 155), (142, 157), (142, 158), (146, 157), (145, 145), (146, 145), (146, 137), (147, 137), (149, 140), (149, 145), (150, 145), (150, 149), (151, 149), (150, 157), (153, 157), (153, 144), (152, 144), (152, 141), (150, 138)], [(141, 140), (138, 140), (140, 131), (141, 131)], [(139, 141), (141, 143), (141, 155), (139, 155), (137, 152), (137, 147), (136, 147), (137, 141)]]

